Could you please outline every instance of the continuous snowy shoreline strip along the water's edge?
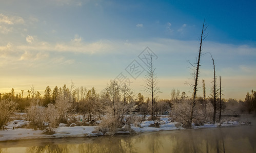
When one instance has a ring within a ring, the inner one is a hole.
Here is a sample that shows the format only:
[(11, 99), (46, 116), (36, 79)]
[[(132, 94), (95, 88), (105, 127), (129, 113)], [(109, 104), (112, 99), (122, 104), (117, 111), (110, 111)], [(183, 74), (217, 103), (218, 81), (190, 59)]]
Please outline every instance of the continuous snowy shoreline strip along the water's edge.
[[(162, 118), (164, 120), (168, 120), (168, 118)], [(42, 130), (33, 130), (26, 128), (19, 129), (9, 129), (6, 131), (0, 131), (0, 145), (1, 143), (6, 142), (17, 142), (22, 140), (38, 140), (38, 139), (59, 139), (59, 138), (90, 138), (90, 137), (99, 137), (99, 136), (117, 136), (117, 135), (134, 135), (141, 133), (151, 133), (151, 132), (160, 132), (160, 131), (176, 131), (176, 130), (199, 130), (199, 129), (210, 129), (210, 128), (218, 128), (218, 123), (215, 124), (204, 124), (202, 126), (192, 126), (191, 128), (184, 128), (181, 126), (175, 126), (176, 123), (179, 122), (169, 122), (165, 121), (165, 123), (160, 124), (160, 127), (149, 127), (149, 125), (156, 121), (144, 121), (140, 123), (141, 127), (131, 126), (131, 130), (129, 131), (119, 131), (114, 134), (103, 134), (103, 133), (94, 133), (95, 128), (97, 126), (64, 126), (57, 127), (56, 133), (53, 135), (42, 134)], [(244, 122), (239, 121), (227, 121), (223, 122), (223, 127), (234, 127), (234, 126), (247, 126)]]

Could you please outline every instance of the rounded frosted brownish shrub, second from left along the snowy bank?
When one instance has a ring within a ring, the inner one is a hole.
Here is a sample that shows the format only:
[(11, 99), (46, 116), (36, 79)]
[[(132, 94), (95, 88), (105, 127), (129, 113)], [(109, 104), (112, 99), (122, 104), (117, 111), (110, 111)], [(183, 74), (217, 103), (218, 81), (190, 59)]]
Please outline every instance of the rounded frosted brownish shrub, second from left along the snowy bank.
[(32, 105), (27, 108), (27, 119), (30, 121), (29, 126), (34, 130), (45, 129), (44, 121), (47, 119), (46, 109), (40, 105)]

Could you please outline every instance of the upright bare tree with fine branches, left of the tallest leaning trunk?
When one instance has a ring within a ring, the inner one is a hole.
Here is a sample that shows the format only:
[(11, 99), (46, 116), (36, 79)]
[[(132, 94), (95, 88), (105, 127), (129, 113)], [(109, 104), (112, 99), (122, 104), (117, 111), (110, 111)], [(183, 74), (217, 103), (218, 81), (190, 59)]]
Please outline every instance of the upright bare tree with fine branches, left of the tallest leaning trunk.
[(146, 85), (144, 86), (146, 91), (151, 98), (152, 101), (152, 109), (151, 109), (151, 119), (154, 120), (154, 105), (155, 105), (155, 99), (157, 98), (157, 94), (160, 93), (159, 87), (157, 87), (157, 84), (159, 83), (159, 80), (156, 77), (155, 68), (153, 67), (153, 58), (152, 55), (150, 55), (150, 61), (148, 62), (148, 69), (146, 70), (147, 74), (145, 75), (144, 82)]

